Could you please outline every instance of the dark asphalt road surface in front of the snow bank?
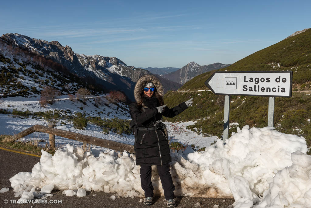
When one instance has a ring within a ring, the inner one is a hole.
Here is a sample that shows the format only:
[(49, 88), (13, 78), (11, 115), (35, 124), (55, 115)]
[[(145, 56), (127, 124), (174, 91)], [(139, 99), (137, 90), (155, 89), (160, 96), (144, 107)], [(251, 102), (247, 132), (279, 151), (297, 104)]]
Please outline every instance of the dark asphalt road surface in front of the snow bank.
[[(144, 206), (143, 203), (140, 203), (141, 198), (116, 198), (116, 200), (109, 199), (110, 196), (115, 195), (115, 193), (105, 193), (101, 192), (86, 192), (85, 197), (77, 196), (65, 196), (62, 194), (62, 191), (52, 191), (53, 196), (48, 197), (46, 200), (61, 200), (61, 203), (51, 203), (46, 204), (45, 201), (42, 204), (14, 204), (13, 200), (18, 200), (20, 197), (14, 197), (13, 188), (9, 178), (13, 177), (19, 172), (31, 172), (33, 166), (40, 162), (39, 157), (34, 157), (30, 155), (24, 155), (19, 153), (14, 153), (6, 150), (0, 149), (0, 189), (7, 187), (10, 190), (0, 194), (0, 207), (104, 207), (104, 208), (139, 208), (139, 207), (150, 207), (150, 208), (159, 208), (166, 207), (164, 197), (155, 197), (155, 202), (151, 206)], [(94, 196), (95, 195), (95, 196)], [(5, 203), (7, 200), (7, 203)], [(225, 200), (225, 201), (224, 201)], [(234, 199), (213, 199), (213, 198), (199, 198), (199, 197), (176, 197), (175, 201), (177, 207), (179, 208), (193, 208), (193, 207), (208, 207), (212, 208), (214, 205), (219, 205), (220, 207), (228, 207), (233, 204)], [(57, 202), (57, 201), (55, 201)], [(198, 206), (198, 203), (200, 206)]]

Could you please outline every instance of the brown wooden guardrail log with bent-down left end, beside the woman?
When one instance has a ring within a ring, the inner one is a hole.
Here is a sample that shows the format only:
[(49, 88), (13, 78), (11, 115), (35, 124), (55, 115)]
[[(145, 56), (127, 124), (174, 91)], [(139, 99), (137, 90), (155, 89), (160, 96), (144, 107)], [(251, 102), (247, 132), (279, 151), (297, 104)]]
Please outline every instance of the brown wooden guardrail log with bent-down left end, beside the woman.
[(56, 135), (56, 136), (60, 136), (60, 137), (68, 138), (68, 139), (73, 139), (73, 140), (85, 142), (88, 144), (94, 144), (94, 145), (97, 145), (100, 147), (105, 147), (108, 149), (114, 149), (114, 150), (118, 150), (118, 151), (122, 151), (122, 152), (124, 150), (126, 150), (128, 153), (135, 153), (134, 152), (134, 146), (130, 145), (130, 144), (124, 144), (121, 142), (111, 141), (108, 139), (101, 139), (101, 138), (94, 137), (94, 136), (83, 135), (83, 134), (72, 132), (72, 131), (55, 129), (53, 127), (44, 126), (44, 125), (31, 126), (28, 129), (26, 129), (26, 130), (24, 130), (24, 131), (22, 131), (16, 135), (13, 135), (12, 141), (15, 141), (17, 139), (20, 139), (20, 138), (23, 138), (27, 135), (30, 135), (30, 134), (34, 133), (35, 131), (44, 132), (44, 133), (48, 133), (50, 135)]

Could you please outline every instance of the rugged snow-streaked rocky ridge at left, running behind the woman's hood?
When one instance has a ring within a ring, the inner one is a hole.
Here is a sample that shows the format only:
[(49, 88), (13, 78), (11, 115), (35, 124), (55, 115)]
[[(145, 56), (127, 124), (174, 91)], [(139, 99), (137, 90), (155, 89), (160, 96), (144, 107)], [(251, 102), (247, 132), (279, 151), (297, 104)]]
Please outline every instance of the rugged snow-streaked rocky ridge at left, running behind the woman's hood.
[[(76, 54), (71, 47), (68, 45), (64, 47), (58, 41), (48, 42), (17, 33), (2, 35), (1, 40), (52, 59), (79, 77), (92, 77), (95, 80), (95, 83), (92, 84), (95, 86), (100, 83), (107, 89), (123, 91), (131, 100), (134, 100), (133, 89), (136, 81), (143, 75), (151, 74), (146, 69), (128, 66), (116, 57)], [(163, 78), (160, 79), (161, 81), (164, 80)], [(165, 92), (177, 90), (181, 86), (177, 83), (171, 83), (169, 80), (164, 83), (166, 83), (166, 85), (163, 84)]]

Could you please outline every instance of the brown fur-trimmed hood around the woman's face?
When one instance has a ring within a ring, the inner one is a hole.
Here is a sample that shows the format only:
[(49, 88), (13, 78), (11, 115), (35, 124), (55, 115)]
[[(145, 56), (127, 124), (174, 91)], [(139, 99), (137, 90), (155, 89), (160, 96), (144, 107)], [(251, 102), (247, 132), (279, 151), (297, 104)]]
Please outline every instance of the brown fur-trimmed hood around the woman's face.
[(153, 75), (144, 75), (137, 80), (137, 83), (134, 88), (134, 97), (137, 103), (142, 101), (141, 94), (146, 83), (148, 82), (152, 82), (155, 85), (158, 94), (163, 97), (164, 90), (160, 80)]

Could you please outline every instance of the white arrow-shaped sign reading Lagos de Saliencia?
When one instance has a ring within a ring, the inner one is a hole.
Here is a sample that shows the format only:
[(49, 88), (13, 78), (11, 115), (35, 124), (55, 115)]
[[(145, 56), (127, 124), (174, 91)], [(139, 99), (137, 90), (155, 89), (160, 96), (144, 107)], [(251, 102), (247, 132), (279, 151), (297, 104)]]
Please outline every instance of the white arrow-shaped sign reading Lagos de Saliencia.
[(215, 72), (205, 82), (216, 95), (291, 97), (292, 71)]

